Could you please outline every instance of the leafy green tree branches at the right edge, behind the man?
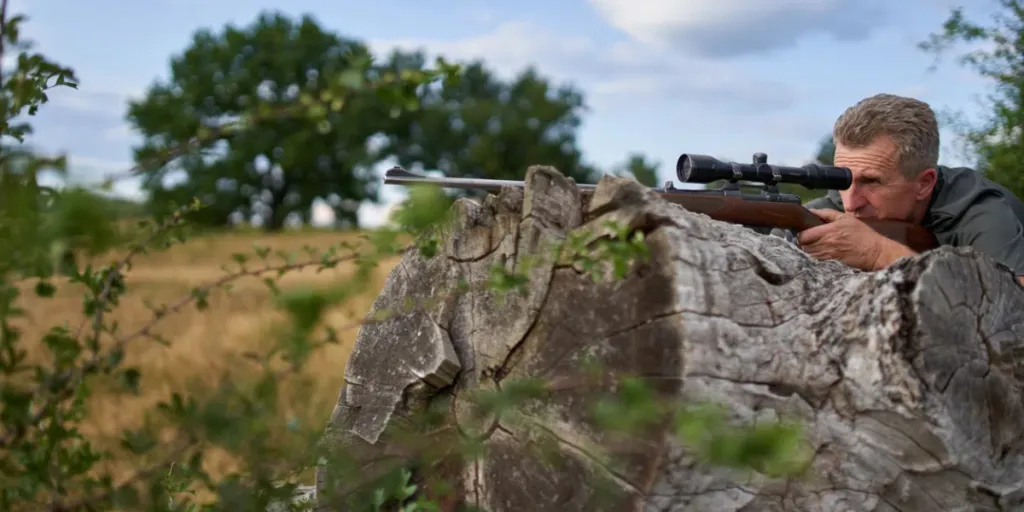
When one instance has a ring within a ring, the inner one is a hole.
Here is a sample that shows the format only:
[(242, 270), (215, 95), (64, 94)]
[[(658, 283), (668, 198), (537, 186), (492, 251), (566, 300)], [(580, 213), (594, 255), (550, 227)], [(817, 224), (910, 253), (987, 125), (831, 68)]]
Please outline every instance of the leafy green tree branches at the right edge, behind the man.
[(997, 5), (999, 13), (988, 24), (971, 22), (962, 8), (953, 9), (942, 30), (919, 48), (932, 53), (937, 62), (957, 43), (973, 46), (957, 62), (990, 80), (993, 90), (981, 122), (961, 118), (955, 128), (976, 168), (1024, 197), (1024, 2), (999, 0)]

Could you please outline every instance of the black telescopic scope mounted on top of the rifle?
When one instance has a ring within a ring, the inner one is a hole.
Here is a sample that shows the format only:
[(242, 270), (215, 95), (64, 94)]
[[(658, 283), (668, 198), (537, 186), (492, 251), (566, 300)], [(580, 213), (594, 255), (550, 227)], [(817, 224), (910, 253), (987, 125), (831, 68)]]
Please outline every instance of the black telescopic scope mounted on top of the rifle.
[(753, 164), (723, 162), (707, 155), (679, 156), (676, 175), (688, 183), (711, 183), (720, 179), (728, 181), (755, 181), (768, 185), (796, 183), (806, 188), (845, 190), (853, 183), (853, 173), (845, 167), (807, 164), (803, 167), (769, 165), (768, 156), (754, 155)]

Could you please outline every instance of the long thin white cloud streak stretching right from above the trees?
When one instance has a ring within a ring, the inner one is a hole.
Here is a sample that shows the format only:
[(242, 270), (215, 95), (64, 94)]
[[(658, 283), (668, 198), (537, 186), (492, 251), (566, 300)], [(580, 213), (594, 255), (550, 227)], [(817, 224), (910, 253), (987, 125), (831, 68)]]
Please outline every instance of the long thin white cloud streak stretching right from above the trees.
[(597, 45), (593, 40), (563, 35), (523, 22), (457, 41), (380, 40), (372, 42), (381, 55), (393, 49), (424, 49), (454, 60), (482, 59), (508, 78), (534, 66), (545, 76), (571, 81), (595, 102), (713, 102), (741, 109), (781, 110), (797, 96), (793, 85), (752, 79), (728, 62), (681, 57), (643, 42)]

